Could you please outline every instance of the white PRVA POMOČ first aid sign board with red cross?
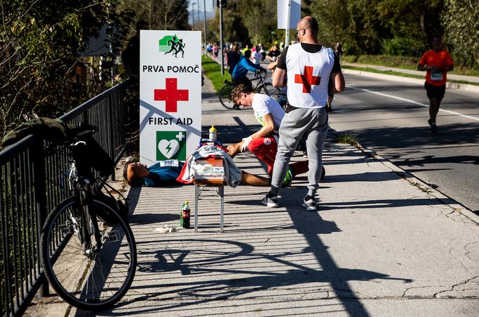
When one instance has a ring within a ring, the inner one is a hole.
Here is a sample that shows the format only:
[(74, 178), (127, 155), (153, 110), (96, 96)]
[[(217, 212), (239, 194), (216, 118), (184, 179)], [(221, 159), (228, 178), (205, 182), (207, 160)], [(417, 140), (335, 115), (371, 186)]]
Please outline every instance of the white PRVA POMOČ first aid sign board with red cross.
[(139, 34), (139, 160), (185, 161), (201, 138), (201, 32)]

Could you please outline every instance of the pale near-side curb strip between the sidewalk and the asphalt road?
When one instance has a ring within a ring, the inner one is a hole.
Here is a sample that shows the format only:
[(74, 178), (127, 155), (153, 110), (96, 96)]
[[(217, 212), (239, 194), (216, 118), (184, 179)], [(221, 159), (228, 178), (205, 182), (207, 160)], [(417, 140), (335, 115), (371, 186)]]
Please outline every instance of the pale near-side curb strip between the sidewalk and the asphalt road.
[[(341, 135), (340, 132), (337, 132), (336, 130), (329, 128), (330, 132), (332, 132), (335, 135)], [(359, 143), (358, 143), (359, 144)], [(349, 145), (349, 144), (348, 144)], [(351, 147), (354, 147), (350, 145)], [(411, 173), (407, 172), (406, 170), (403, 170), (399, 166), (395, 166), (394, 163), (391, 161), (383, 158), (382, 156), (378, 155), (375, 151), (368, 149), (366, 147), (363, 147), (361, 144), (359, 144), (356, 149), (359, 149), (359, 151), (363, 152), (366, 154), (368, 157), (371, 159), (374, 159), (375, 161), (378, 161), (379, 163), (382, 163), (382, 165), (386, 166), (389, 168), (393, 173), (398, 175), (400, 178), (403, 178), (409, 184), (418, 187), (421, 189), (423, 192), (426, 192), (430, 196), (434, 197), (435, 199), (438, 199), (439, 201), (442, 202), (442, 204), (449, 206), (453, 211), (457, 211), (461, 213), (462, 215), (466, 216), (467, 218), (473, 220), (474, 223), (479, 225), (479, 216), (473, 213), (470, 209), (466, 208), (466, 206), (463, 206), (459, 204), (457, 201), (452, 199), (451, 197), (447, 196), (446, 194), (443, 194), (437, 189), (434, 189), (433, 187), (430, 187), (428, 184), (423, 182), (421, 179), (416, 178), (416, 176), (412, 175)], [(454, 204), (449, 203), (448, 201), (454, 201)]]

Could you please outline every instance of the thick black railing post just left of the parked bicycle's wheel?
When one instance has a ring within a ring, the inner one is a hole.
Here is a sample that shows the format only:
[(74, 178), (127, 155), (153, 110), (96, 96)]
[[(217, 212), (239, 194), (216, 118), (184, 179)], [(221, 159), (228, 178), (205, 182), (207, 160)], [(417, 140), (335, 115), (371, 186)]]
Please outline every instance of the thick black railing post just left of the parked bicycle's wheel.
[[(44, 143), (42, 140), (37, 139), (35, 142), (35, 151), (33, 152), (33, 179), (35, 190), (35, 208), (37, 209), (37, 259), (39, 268), (42, 267), (42, 261), (40, 256), (40, 236), (42, 235), (42, 228), (45, 223), (46, 217), (46, 186), (45, 186), (45, 153)], [(40, 271), (40, 270), (39, 270)], [(44, 281), (40, 286), (38, 294), (40, 297), (49, 296), (49, 284), (45, 276), (42, 277)]]

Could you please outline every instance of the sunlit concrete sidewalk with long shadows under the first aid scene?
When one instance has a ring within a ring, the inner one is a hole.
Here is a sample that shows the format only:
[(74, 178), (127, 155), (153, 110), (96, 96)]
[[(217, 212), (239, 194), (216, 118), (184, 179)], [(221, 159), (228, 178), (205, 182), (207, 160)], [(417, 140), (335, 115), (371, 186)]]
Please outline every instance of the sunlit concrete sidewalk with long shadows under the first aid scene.
[[(259, 128), (251, 110), (220, 106), (210, 85), (202, 106), (204, 132), (215, 125), (222, 142)], [(477, 316), (477, 223), (389, 162), (332, 137), (318, 212), (300, 206), (306, 175), (282, 190), (278, 209), (260, 204), (266, 187), (226, 187), (220, 233), (219, 202), (206, 189), (194, 233), (179, 226), (193, 186), (132, 187), (135, 281), (110, 311), (70, 316)], [(266, 175), (251, 155), (235, 162)], [(163, 233), (165, 225), (178, 231)]]

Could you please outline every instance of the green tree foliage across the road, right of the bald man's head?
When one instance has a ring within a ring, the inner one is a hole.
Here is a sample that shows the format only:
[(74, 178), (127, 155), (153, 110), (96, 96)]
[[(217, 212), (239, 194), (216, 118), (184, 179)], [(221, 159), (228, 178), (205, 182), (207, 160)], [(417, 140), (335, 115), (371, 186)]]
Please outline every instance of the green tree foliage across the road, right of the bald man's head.
[(309, 10), (320, 40), (347, 54), (419, 57), (444, 35), (459, 63), (479, 63), (479, 0), (321, 0)]

